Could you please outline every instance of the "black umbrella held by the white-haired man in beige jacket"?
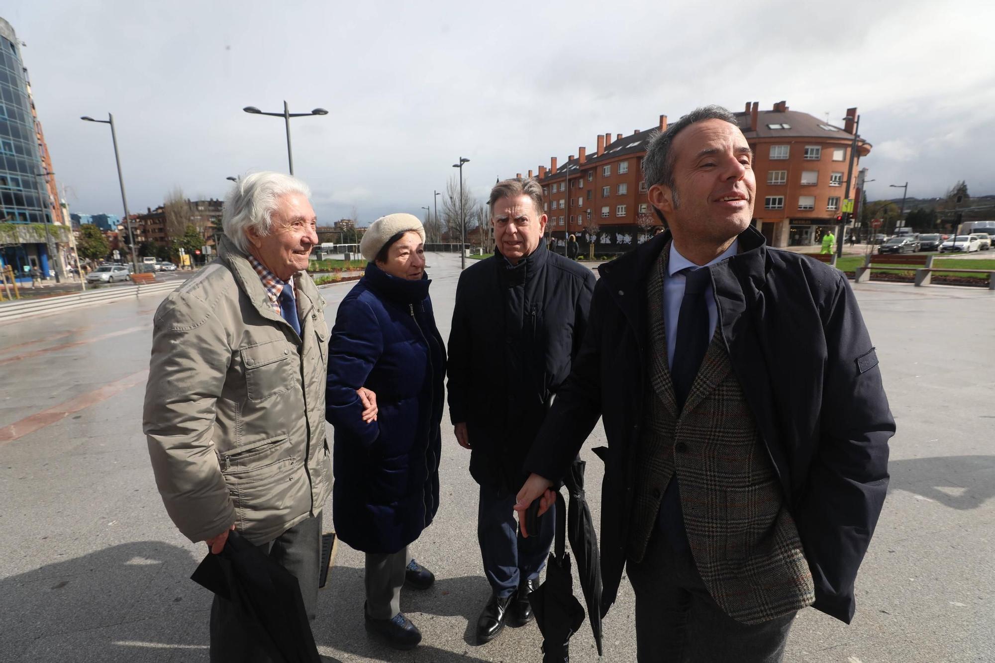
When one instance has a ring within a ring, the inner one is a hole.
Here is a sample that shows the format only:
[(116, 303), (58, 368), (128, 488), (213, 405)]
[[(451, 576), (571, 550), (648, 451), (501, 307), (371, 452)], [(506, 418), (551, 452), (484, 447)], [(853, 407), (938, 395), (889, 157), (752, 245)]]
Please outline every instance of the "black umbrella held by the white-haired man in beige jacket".
[(231, 601), (274, 661), (320, 663), (298, 578), (232, 531), (225, 548), (207, 553), (190, 576)]

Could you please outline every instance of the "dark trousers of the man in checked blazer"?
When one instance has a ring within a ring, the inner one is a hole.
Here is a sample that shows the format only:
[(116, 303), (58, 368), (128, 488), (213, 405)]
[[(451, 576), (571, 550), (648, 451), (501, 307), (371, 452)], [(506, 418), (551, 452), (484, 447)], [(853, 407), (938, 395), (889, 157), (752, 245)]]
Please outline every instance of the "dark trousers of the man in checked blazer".
[(654, 531), (640, 562), (627, 564), (636, 591), (639, 663), (778, 663), (795, 612), (761, 624), (725, 614), (708, 593), (691, 552)]

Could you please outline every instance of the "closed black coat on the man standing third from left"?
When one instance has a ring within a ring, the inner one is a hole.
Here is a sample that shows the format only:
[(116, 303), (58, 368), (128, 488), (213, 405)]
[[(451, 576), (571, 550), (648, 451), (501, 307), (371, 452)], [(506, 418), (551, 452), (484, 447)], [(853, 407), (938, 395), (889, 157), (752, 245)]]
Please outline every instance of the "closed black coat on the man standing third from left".
[(544, 241), (516, 265), (497, 253), (460, 275), (449, 411), (454, 424), (467, 424), (477, 483), (521, 487), (525, 454), (580, 349), (594, 281)]

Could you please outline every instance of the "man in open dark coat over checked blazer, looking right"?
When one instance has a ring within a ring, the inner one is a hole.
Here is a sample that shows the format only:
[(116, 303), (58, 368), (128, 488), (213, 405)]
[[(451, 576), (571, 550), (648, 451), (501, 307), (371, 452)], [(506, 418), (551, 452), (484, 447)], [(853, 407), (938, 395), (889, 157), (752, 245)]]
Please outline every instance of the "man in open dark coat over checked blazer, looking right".
[(875, 348), (842, 272), (751, 226), (727, 110), (658, 132), (644, 176), (670, 231), (601, 267), (515, 510), (603, 416), (602, 611), (627, 566), (641, 662), (779, 661), (802, 607), (854, 614), (895, 433)]

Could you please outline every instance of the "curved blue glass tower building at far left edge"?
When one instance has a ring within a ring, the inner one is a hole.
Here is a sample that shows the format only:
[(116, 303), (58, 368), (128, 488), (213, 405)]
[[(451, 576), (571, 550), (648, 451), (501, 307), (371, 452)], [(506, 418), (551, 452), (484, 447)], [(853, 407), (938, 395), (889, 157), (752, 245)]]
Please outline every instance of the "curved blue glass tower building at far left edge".
[[(27, 70), (14, 28), (0, 18), (0, 269), (11, 266), (48, 278), (51, 251), (62, 237), (53, 226)], [(30, 225), (44, 224), (44, 226)]]

